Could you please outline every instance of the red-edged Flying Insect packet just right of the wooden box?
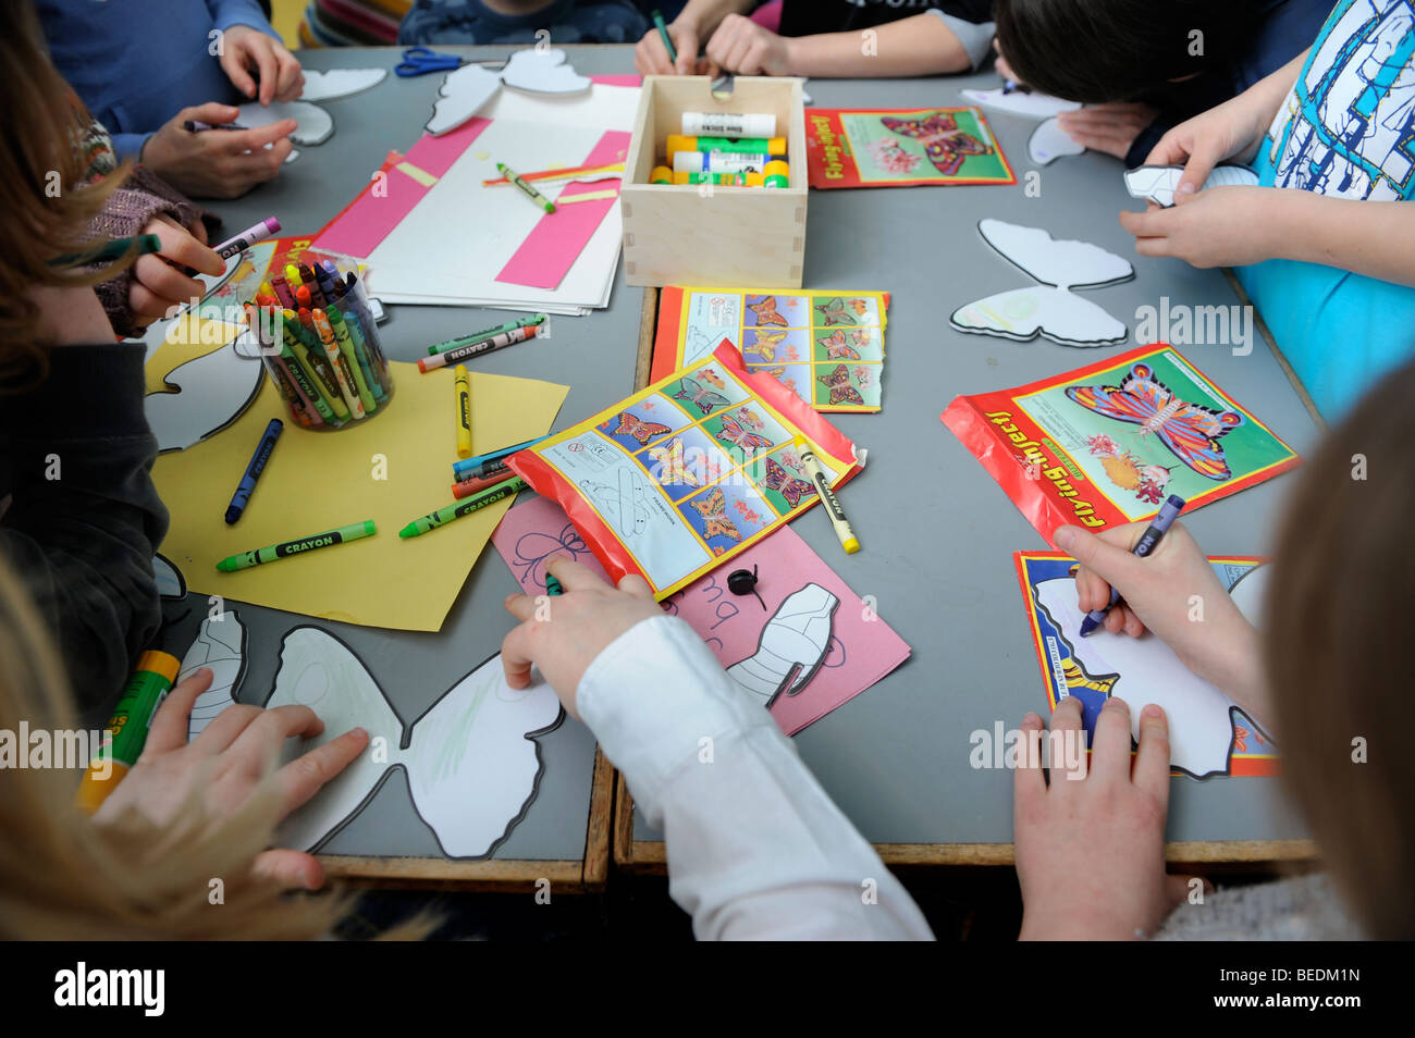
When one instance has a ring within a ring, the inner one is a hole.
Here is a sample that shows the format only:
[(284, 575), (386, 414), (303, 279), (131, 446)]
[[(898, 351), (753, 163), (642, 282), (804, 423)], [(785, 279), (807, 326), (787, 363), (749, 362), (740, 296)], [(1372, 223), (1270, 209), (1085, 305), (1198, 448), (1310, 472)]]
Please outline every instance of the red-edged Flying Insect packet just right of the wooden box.
[(1016, 184), (975, 107), (805, 110), (814, 188)]

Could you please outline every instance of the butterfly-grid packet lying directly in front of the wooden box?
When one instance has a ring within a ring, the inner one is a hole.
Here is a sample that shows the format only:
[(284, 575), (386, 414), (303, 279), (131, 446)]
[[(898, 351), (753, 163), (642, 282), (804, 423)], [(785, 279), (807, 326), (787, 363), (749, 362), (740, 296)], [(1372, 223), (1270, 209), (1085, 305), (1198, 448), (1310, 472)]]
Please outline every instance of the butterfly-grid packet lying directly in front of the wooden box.
[(883, 407), (889, 293), (678, 288), (659, 294), (654, 372), (709, 356), (723, 339), (824, 413)]

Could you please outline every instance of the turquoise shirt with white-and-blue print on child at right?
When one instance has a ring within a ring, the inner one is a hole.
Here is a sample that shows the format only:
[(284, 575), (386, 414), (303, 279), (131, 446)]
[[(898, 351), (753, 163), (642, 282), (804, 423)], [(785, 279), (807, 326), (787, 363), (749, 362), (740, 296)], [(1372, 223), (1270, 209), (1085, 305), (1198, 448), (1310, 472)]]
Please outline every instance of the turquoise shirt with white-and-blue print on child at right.
[[(1411, 201), (1412, 58), (1412, 0), (1339, 0), (1258, 150), (1262, 185)], [(1235, 273), (1329, 421), (1415, 355), (1415, 288), (1290, 260)]]

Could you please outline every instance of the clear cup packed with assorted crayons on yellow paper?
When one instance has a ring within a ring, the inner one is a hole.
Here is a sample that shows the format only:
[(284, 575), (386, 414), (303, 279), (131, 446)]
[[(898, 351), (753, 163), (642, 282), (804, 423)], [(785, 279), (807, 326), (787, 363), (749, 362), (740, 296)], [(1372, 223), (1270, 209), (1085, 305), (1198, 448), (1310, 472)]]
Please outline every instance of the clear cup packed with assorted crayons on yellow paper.
[(331, 433), (388, 409), (393, 376), (355, 269), (306, 250), (238, 297), (297, 426)]

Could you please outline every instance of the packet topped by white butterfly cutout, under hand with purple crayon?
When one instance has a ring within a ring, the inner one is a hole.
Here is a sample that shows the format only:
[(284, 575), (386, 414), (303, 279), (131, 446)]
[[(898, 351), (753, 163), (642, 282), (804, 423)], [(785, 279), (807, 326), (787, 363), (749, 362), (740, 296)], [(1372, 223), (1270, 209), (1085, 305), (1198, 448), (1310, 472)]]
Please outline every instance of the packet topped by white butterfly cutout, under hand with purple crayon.
[[(1078, 697), (1087, 734), (1094, 735), (1101, 707), (1115, 696), (1131, 707), (1131, 734), (1138, 737), (1140, 710), (1155, 703), (1169, 718), (1176, 772), (1190, 778), (1278, 772), (1272, 737), (1223, 692), (1193, 675), (1165, 642), (1153, 635), (1112, 635), (1104, 628), (1080, 636), (1084, 614), (1077, 605), (1075, 560), (1058, 552), (1017, 552), (1013, 559), (1053, 710), (1067, 696)], [(1258, 624), (1269, 567), (1251, 557), (1208, 561), (1238, 608)]]

